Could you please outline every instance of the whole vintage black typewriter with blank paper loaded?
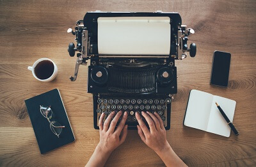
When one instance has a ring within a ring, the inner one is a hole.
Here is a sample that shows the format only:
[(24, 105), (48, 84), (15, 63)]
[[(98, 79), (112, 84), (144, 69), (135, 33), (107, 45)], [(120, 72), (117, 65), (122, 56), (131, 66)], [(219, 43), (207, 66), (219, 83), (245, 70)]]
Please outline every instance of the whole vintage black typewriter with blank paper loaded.
[(194, 43), (188, 47), (195, 31), (182, 25), (179, 13), (88, 12), (67, 32), (76, 36), (76, 45), (68, 45), (70, 56), (77, 53), (70, 80), (76, 81), (79, 65), (90, 63), (87, 90), (93, 94), (95, 129), (102, 112), (106, 119), (120, 110), (128, 112), (128, 129), (137, 129), (135, 113), (141, 111), (157, 112), (170, 129), (175, 60), (196, 54)]

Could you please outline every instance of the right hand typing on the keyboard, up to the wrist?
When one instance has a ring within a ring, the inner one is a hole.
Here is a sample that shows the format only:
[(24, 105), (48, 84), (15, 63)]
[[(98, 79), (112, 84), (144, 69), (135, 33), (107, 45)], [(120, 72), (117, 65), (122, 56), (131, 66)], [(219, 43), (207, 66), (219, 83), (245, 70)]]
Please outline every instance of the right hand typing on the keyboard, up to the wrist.
[(142, 116), (148, 123), (149, 129), (141, 119), (139, 113), (136, 113), (135, 116), (138, 120), (138, 134), (140, 135), (141, 140), (155, 152), (163, 152), (164, 150), (170, 148), (170, 145), (166, 139), (166, 130), (164, 128), (164, 123), (161, 120), (160, 116), (154, 112), (145, 113), (141, 112)]

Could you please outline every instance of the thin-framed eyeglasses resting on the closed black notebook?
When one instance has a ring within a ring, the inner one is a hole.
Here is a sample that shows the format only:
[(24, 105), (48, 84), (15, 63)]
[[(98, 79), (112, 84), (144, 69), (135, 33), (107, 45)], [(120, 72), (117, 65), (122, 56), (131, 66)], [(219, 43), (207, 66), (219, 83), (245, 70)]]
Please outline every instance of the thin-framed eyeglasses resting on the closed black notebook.
[(62, 128), (64, 128), (65, 126), (62, 126), (60, 123), (56, 122), (56, 121), (50, 121), (52, 118), (52, 109), (51, 106), (46, 107), (46, 106), (41, 106), (40, 105), (40, 112), (41, 114), (47, 118), (48, 122), (50, 123), (50, 129), (51, 131), (58, 136), (58, 138), (60, 137), (60, 133), (62, 131)]

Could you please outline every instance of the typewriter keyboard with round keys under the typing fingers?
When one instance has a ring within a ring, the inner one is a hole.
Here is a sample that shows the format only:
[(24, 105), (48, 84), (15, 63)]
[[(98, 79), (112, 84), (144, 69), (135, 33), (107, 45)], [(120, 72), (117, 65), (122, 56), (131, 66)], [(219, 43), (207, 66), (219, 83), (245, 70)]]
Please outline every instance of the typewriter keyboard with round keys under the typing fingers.
[[(137, 129), (136, 125), (138, 125), (138, 122), (135, 113), (138, 112), (141, 115), (141, 111), (149, 111), (151, 113), (157, 112), (163, 120), (164, 127), (170, 129), (170, 109), (172, 101), (170, 97), (95, 97), (93, 99), (95, 100), (93, 104), (95, 106), (94, 116), (97, 115), (97, 127), (99, 127), (99, 118), (102, 112), (105, 113), (104, 120), (106, 120), (111, 112), (123, 111), (124, 113), (124, 111), (127, 111), (128, 116), (125, 124), (128, 125), (128, 129)], [(142, 115), (141, 118), (145, 122), (145, 118), (143, 118)]]

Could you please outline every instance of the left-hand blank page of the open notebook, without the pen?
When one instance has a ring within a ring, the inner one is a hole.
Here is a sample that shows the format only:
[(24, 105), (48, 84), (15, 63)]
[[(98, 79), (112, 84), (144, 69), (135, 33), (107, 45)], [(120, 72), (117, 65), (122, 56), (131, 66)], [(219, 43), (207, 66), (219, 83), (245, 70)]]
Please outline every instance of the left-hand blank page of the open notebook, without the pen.
[(184, 125), (207, 131), (212, 98), (210, 93), (191, 90)]

